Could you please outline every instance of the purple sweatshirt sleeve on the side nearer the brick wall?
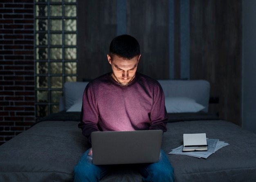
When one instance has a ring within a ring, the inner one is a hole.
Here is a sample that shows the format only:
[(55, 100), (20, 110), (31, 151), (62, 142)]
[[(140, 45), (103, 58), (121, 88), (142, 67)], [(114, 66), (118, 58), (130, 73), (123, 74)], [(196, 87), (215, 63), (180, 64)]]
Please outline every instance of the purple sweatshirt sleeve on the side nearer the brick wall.
[(83, 93), (83, 104), (80, 118), (81, 121), (78, 127), (82, 129), (83, 136), (87, 137), (88, 142), (91, 143), (91, 133), (99, 131), (99, 127), (97, 126), (99, 121), (99, 111), (97, 109), (97, 102), (95, 101), (90, 83), (88, 83)]

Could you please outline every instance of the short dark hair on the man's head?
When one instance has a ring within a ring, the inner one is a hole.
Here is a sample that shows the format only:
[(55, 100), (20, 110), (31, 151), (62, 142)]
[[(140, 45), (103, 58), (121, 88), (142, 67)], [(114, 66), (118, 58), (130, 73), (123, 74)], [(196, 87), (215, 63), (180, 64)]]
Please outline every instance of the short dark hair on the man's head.
[(115, 37), (109, 47), (109, 55), (118, 55), (125, 59), (132, 59), (140, 55), (139, 42), (130, 35), (119, 35)]

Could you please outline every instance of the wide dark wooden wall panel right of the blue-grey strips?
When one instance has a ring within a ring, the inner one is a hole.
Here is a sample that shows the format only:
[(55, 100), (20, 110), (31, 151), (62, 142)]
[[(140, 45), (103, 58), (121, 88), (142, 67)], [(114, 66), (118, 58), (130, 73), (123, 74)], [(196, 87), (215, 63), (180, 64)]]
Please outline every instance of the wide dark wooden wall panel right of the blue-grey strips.
[(210, 112), (241, 125), (242, 2), (191, 0), (191, 79), (207, 79)]

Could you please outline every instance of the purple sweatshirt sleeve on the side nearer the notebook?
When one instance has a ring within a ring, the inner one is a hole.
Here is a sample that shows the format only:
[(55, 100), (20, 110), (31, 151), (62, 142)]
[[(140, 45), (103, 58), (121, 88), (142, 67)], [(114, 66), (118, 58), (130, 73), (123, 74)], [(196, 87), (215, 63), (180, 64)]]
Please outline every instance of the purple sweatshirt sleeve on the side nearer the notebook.
[(166, 123), (168, 121), (168, 115), (164, 103), (164, 91), (159, 83), (154, 89), (154, 99), (150, 119), (150, 130), (161, 129), (163, 132), (167, 131)]

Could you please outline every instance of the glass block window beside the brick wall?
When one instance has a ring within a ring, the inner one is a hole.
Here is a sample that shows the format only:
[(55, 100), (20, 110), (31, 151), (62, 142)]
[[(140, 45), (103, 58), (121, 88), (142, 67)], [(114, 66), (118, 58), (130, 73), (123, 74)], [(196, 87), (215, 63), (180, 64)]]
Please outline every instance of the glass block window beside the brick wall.
[(63, 84), (77, 78), (77, 0), (34, 0), (36, 119), (59, 112)]

